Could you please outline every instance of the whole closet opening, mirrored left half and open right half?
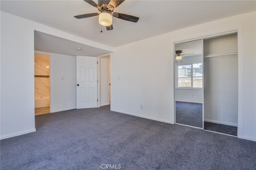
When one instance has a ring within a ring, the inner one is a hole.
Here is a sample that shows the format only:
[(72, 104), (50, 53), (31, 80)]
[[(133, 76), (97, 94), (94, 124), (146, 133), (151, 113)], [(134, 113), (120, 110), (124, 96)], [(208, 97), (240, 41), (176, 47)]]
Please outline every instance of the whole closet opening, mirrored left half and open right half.
[(175, 123), (237, 136), (237, 33), (174, 48)]

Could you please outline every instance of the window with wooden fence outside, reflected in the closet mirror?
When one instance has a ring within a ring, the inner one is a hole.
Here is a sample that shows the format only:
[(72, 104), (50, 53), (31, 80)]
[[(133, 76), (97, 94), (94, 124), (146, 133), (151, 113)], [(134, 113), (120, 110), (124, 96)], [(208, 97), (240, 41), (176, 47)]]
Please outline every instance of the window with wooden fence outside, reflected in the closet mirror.
[(203, 87), (202, 63), (178, 65), (178, 87)]

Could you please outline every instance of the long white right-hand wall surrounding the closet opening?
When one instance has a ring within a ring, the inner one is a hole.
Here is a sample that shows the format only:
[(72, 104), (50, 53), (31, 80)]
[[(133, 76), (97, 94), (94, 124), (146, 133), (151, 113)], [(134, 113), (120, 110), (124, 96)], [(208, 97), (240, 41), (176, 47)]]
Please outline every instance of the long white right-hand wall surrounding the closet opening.
[(238, 44), (243, 45), (238, 50), (244, 51), (239, 53), (244, 107), (238, 137), (256, 140), (255, 16), (250, 12), (117, 47), (111, 54), (111, 110), (174, 123), (173, 43), (238, 30)]

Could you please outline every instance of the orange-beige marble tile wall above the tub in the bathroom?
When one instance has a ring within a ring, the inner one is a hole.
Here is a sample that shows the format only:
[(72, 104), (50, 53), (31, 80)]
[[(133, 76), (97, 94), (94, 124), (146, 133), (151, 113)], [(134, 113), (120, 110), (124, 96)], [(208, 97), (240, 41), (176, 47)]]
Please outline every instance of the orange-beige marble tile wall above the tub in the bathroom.
[(35, 78), (34, 78), (35, 79), (35, 98), (49, 97), (50, 96), (49, 56), (35, 54), (34, 65), (35, 65)]

